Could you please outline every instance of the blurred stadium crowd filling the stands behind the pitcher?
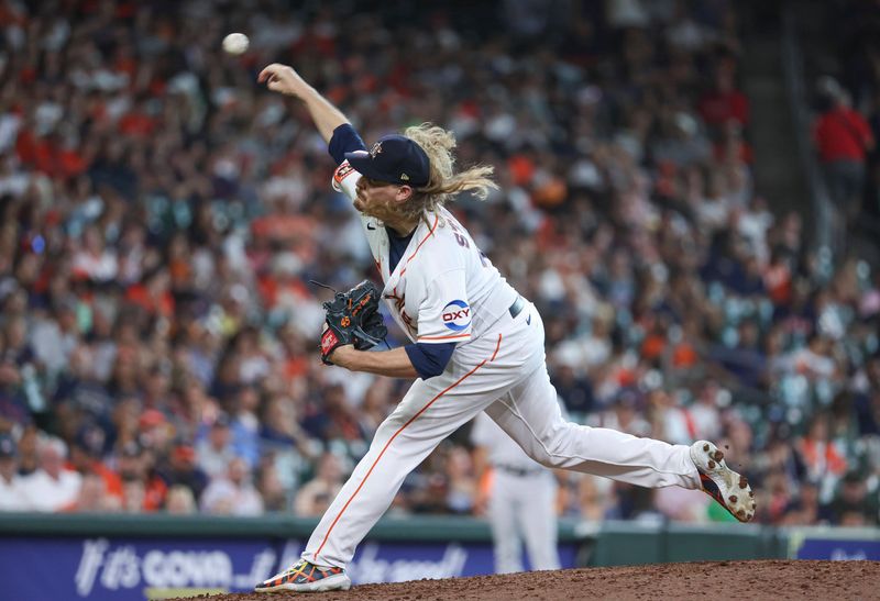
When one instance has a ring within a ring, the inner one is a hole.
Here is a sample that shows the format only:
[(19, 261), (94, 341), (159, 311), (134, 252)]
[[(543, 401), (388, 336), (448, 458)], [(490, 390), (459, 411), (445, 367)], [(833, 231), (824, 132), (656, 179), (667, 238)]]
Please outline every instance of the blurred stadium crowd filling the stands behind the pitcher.
[[(878, 523), (880, 279), (754, 189), (736, 2), (250, 4), (0, 0), (0, 509), (320, 515), (400, 398), (319, 360), (308, 281), (375, 272), (326, 145), (255, 84), (280, 60), (366, 141), (430, 120), (496, 167), (453, 209), (576, 421), (721, 442), (760, 522)], [(560, 478), (562, 515), (729, 517)], [(479, 486), (460, 433), (393, 511)]]

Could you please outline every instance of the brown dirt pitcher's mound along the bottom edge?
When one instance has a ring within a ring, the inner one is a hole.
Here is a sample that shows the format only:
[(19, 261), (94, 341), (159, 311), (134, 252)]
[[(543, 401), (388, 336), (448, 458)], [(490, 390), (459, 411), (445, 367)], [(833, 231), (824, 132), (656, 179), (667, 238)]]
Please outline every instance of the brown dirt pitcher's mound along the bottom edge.
[(344, 592), (215, 594), (210, 601), (880, 599), (880, 561), (701, 561), (363, 585)]

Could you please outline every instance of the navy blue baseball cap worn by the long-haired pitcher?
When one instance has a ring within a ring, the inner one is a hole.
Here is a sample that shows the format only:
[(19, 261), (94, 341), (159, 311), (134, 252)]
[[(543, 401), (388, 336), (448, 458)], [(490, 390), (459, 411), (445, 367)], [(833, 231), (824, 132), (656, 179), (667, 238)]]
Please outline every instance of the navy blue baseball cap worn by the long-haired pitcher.
[(370, 151), (345, 153), (345, 158), (355, 171), (377, 181), (418, 188), (427, 186), (431, 178), (428, 155), (403, 135), (383, 136)]

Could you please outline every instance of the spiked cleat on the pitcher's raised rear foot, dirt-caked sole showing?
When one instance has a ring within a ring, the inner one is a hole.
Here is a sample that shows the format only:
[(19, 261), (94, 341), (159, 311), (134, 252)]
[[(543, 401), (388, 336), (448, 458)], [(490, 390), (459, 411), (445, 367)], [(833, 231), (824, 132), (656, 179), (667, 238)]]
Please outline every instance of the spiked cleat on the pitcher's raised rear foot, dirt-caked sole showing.
[(691, 445), (691, 460), (700, 471), (703, 492), (715, 499), (740, 522), (755, 517), (757, 503), (749, 481), (724, 461), (724, 453), (708, 441)]

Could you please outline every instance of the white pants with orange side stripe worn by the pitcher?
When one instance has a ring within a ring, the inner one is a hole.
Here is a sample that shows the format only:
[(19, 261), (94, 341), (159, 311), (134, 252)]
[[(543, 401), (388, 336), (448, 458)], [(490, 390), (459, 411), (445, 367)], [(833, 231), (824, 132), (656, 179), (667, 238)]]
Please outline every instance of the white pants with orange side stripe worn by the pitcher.
[(550, 383), (543, 323), (527, 303), (459, 346), (447, 370), (416, 380), (311, 534), (302, 558), (345, 567), (404, 478), (481, 411), (536, 461), (649, 488), (700, 488), (689, 447), (566, 422)]

